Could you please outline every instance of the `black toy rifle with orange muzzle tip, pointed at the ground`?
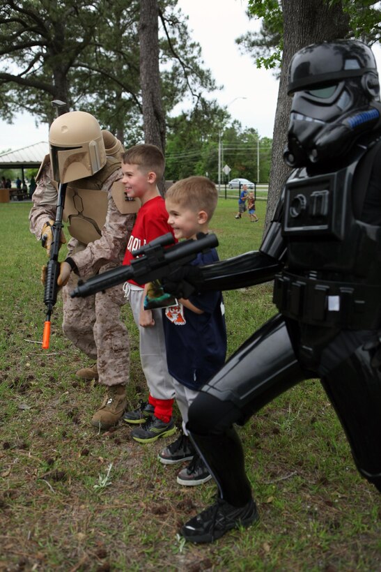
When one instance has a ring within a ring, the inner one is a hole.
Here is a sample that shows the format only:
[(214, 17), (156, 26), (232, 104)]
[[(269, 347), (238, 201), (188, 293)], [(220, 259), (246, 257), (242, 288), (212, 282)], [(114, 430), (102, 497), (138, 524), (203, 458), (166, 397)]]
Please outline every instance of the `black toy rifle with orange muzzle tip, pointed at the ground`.
[[(52, 101), (53, 107), (56, 107), (56, 116), (61, 115), (66, 104), (60, 100)], [(61, 112), (60, 112), (61, 110)], [(61, 246), (61, 231), (63, 229), (62, 216), (63, 207), (65, 206), (65, 194), (67, 183), (59, 183), (56, 220), (52, 225), (52, 244), (50, 246), (49, 262), (47, 263), (45, 275), (45, 292), (44, 303), (47, 307), (47, 315), (44, 323), (44, 333), (42, 334), (42, 349), (49, 349), (50, 339), (50, 318), (52, 316), (53, 307), (57, 301), (57, 294), (59, 286), (57, 285), (57, 278), (59, 277), (60, 263), (59, 263), (59, 248)], [(41, 237), (42, 246), (44, 244), (44, 236)], [(46, 237), (45, 237), (46, 241)]]

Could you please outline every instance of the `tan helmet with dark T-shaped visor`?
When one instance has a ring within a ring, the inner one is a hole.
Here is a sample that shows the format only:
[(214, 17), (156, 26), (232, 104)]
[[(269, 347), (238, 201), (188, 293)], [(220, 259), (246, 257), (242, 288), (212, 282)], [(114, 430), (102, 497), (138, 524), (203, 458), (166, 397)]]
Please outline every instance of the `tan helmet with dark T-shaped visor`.
[(84, 111), (57, 117), (50, 126), (49, 146), (53, 176), (61, 183), (84, 179), (106, 165), (100, 125)]

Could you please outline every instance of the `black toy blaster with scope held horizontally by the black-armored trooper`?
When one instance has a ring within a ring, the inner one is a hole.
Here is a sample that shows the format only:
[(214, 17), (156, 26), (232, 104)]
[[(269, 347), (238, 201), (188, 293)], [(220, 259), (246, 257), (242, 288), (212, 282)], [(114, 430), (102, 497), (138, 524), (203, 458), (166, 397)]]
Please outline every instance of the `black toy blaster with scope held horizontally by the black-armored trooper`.
[[(96, 292), (102, 292), (126, 280), (134, 280), (138, 284), (146, 284), (152, 280), (163, 278), (171, 271), (179, 269), (180, 266), (192, 262), (197, 253), (218, 246), (218, 239), (215, 234), (197, 234), (197, 240), (189, 239), (179, 242), (170, 248), (164, 248), (173, 244), (172, 234), (159, 236), (139, 250), (134, 250), (135, 257), (130, 266), (119, 266), (98, 276), (93, 276), (82, 282), (79, 280), (77, 288), (70, 292), (70, 296), (75, 298), (91, 296)], [(137, 258), (138, 257), (138, 258)]]

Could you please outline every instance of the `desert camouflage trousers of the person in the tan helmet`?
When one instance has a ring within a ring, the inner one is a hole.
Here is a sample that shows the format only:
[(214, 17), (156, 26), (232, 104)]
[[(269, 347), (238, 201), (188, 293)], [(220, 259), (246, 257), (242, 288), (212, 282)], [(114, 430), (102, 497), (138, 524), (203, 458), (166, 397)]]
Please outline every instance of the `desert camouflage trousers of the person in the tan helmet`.
[(78, 277), (72, 272), (63, 287), (65, 336), (98, 364), (99, 381), (104, 385), (127, 384), (130, 379), (130, 340), (120, 320), (126, 303), (122, 285), (87, 298), (70, 298)]

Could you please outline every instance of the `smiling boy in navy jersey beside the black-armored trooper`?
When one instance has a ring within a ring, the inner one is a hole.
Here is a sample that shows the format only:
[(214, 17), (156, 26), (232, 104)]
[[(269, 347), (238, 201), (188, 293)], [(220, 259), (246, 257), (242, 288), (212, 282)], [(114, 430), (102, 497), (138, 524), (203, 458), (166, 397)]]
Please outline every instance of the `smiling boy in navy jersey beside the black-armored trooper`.
[[(217, 198), (215, 184), (204, 176), (190, 176), (174, 183), (166, 192), (165, 204), (176, 239), (196, 239), (198, 232), (207, 233)], [(212, 248), (197, 255), (192, 264), (199, 266), (217, 260), (217, 251)], [(177, 482), (194, 486), (212, 476), (187, 436), (188, 409), (200, 387), (224, 364), (224, 303), (221, 292), (192, 294), (187, 300), (178, 300), (177, 306), (165, 308), (163, 313), (166, 361), (173, 376), (183, 434), (163, 449), (159, 459), (164, 465), (191, 460), (178, 473)]]

